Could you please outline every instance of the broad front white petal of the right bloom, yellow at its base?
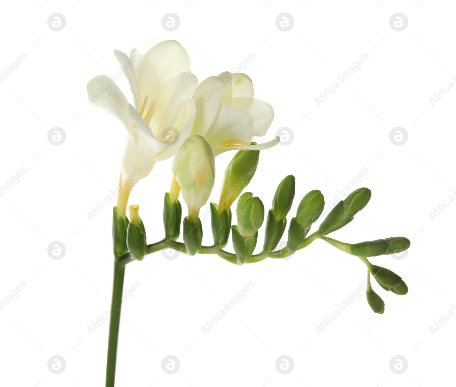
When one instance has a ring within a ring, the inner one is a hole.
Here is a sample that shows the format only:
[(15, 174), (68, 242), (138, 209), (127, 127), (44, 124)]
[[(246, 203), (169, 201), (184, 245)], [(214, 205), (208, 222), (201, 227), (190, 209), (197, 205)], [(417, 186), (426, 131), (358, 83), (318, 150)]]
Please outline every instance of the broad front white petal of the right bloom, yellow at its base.
[(228, 105), (220, 105), (204, 138), (217, 156), (221, 146), (249, 145), (253, 132), (252, 117), (248, 113)]

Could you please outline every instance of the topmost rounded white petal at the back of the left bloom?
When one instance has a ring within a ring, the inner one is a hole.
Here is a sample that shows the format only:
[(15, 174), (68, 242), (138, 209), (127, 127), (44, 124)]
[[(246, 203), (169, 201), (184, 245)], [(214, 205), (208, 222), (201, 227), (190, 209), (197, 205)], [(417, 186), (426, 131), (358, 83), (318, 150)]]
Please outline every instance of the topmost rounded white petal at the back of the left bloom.
[(145, 53), (145, 57), (156, 68), (162, 83), (180, 73), (191, 71), (187, 51), (175, 40), (155, 44)]

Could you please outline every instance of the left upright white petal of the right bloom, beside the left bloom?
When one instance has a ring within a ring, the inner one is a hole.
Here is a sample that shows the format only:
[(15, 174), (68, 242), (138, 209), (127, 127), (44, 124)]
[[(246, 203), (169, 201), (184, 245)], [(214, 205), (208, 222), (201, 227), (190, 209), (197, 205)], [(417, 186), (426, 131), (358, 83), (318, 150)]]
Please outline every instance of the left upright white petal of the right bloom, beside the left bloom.
[(206, 78), (197, 86), (193, 97), (198, 101), (199, 111), (193, 124), (192, 135), (206, 134), (217, 115), (225, 87), (226, 82), (217, 76)]

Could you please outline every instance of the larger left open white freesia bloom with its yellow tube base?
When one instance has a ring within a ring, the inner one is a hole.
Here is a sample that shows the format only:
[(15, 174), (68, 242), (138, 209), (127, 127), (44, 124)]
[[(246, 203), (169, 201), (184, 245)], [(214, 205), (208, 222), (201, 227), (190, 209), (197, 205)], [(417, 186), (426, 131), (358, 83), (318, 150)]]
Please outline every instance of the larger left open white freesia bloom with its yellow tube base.
[(87, 91), (94, 105), (119, 119), (127, 130), (117, 200), (121, 216), (135, 183), (150, 173), (155, 162), (172, 157), (190, 135), (197, 115), (192, 93), (198, 81), (190, 72), (187, 52), (172, 40), (156, 44), (145, 54), (133, 49), (130, 58), (120, 51), (114, 55), (135, 106), (105, 75), (89, 81)]

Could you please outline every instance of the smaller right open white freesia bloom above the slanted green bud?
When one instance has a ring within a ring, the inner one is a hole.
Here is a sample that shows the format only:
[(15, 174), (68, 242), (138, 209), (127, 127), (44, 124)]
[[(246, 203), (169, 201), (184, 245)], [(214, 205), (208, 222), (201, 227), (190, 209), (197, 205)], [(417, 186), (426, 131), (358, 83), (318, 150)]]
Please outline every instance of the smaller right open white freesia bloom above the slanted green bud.
[(192, 135), (203, 136), (214, 156), (231, 149), (267, 149), (274, 140), (249, 146), (253, 136), (264, 136), (274, 118), (271, 105), (254, 98), (252, 80), (243, 73), (224, 72), (198, 85), (193, 93), (199, 112)]

